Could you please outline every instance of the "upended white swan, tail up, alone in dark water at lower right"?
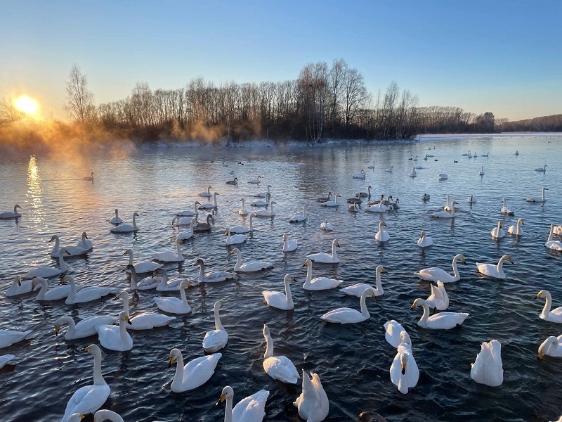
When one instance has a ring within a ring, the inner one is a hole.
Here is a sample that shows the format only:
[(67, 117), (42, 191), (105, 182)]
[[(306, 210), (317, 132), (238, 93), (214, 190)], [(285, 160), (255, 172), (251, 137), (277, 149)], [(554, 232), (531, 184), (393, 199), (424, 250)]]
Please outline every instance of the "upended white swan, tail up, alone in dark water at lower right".
[(502, 344), (497, 340), (482, 343), (476, 361), (471, 364), (470, 378), (479, 384), (497, 387), (504, 382)]

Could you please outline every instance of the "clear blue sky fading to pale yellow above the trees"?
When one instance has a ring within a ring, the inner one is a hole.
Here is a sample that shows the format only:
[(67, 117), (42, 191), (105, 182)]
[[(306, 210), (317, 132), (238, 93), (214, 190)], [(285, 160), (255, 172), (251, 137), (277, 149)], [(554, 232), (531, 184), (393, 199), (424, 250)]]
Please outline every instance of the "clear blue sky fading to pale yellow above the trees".
[(4, 0), (0, 98), (65, 120), (77, 63), (95, 101), (136, 83), (282, 82), (343, 58), (370, 93), (521, 120), (562, 113), (562, 0)]

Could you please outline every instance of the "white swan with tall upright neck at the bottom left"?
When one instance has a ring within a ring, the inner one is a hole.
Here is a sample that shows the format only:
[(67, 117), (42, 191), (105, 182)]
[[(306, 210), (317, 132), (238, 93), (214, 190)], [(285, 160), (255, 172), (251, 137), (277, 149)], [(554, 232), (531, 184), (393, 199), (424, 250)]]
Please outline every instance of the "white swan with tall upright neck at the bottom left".
[(86, 352), (93, 355), (93, 384), (84, 385), (74, 392), (66, 405), (61, 422), (69, 422), (72, 414), (89, 414), (98, 410), (110, 396), (110, 387), (101, 374), (101, 350), (98, 345), (89, 345)]

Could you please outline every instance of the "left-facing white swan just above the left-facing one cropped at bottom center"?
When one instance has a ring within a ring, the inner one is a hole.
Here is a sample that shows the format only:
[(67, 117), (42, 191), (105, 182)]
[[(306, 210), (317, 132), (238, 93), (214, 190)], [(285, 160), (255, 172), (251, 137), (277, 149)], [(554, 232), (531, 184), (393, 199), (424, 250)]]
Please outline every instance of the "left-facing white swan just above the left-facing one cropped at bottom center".
[(170, 350), (170, 365), (178, 362), (174, 380), (171, 382), (171, 390), (173, 392), (184, 392), (193, 390), (207, 383), (211, 376), (215, 373), (218, 359), (221, 359), (221, 353), (213, 353), (208, 356), (197, 357), (183, 366), (183, 355), (179, 349)]

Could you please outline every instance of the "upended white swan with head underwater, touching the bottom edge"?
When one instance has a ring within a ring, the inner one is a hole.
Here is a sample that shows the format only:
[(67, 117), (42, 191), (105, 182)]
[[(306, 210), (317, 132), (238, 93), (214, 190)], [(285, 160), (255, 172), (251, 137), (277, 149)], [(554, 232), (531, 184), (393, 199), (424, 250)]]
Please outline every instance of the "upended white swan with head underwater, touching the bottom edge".
[(322, 422), (329, 413), (328, 396), (317, 374), (311, 372), (311, 379), (304, 369), (302, 371), (303, 392), (293, 404), (299, 410), (299, 416), (306, 422)]

